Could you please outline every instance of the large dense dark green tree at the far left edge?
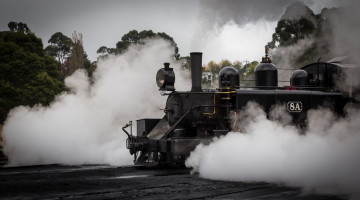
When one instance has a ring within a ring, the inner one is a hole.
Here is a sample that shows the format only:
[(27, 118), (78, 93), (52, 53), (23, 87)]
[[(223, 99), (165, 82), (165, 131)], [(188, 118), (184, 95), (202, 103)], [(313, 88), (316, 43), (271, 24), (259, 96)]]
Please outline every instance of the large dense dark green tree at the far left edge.
[(45, 55), (41, 39), (30, 31), (14, 31), (12, 25), (11, 31), (0, 32), (0, 124), (11, 108), (49, 105), (65, 90), (57, 63)]

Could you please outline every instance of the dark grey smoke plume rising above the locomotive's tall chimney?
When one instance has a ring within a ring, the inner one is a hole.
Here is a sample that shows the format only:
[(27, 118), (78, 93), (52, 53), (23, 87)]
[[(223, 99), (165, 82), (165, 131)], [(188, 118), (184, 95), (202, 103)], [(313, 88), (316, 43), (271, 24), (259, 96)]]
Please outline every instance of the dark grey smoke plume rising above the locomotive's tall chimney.
[(258, 21), (277, 21), (290, 2), (292, 1), (203, 0), (200, 3), (200, 23), (193, 45), (197, 48), (203, 47), (229, 23), (243, 27)]

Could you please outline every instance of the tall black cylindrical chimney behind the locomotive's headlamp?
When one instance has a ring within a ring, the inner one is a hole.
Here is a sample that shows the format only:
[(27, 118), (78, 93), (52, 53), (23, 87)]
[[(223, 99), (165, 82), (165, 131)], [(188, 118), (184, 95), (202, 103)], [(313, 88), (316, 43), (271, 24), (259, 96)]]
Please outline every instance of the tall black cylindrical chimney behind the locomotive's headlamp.
[(202, 53), (190, 53), (191, 62), (191, 92), (202, 92), (201, 89), (201, 76), (202, 76)]

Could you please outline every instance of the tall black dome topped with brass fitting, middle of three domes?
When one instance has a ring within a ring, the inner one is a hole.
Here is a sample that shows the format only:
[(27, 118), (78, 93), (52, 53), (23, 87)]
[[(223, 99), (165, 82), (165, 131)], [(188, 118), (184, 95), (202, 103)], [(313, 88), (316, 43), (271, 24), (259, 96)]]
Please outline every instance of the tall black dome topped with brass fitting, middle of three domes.
[(265, 48), (265, 57), (262, 58), (261, 63), (255, 68), (255, 86), (256, 87), (277, 87), (278, 74), (274, 64), (272, 64), (268, 57), (269, 48)]

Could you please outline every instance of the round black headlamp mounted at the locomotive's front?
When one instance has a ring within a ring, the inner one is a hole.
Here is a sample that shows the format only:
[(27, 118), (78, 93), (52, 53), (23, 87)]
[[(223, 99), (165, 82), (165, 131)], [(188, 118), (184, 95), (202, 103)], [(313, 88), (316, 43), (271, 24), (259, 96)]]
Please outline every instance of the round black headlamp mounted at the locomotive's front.
[(156, 74), (156, 84), (159, 90), (174, 91), (175, 73), (170, 68), (170, 63), (164, 63), (164, 68), (159, 69)]

